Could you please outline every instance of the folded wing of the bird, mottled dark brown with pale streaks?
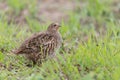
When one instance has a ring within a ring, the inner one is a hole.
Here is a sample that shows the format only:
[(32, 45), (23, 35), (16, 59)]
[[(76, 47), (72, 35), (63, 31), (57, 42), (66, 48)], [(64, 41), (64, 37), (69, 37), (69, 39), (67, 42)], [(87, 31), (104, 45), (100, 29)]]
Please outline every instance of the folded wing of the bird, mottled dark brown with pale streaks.
[(39, 52), (42, 49), (43, 51), (52, 51), (54, 50), (54, 46), (56, 46), (55, 42), (55, 38), (50, 34), (43, 32), (34, 34), (33, 36), (31, 36), (23, 42), (23, 44), (18, 49), (17, 53), (29, 54), (32, 52)]

